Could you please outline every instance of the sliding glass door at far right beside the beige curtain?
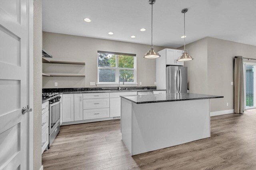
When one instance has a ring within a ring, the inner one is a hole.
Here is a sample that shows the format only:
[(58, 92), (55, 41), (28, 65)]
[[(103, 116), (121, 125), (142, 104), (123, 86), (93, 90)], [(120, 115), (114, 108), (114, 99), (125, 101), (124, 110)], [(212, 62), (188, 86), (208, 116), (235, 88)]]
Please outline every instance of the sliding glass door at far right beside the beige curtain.
[(254, 63), (244, 63), (245, 109), (255, 108), (255, 68)]

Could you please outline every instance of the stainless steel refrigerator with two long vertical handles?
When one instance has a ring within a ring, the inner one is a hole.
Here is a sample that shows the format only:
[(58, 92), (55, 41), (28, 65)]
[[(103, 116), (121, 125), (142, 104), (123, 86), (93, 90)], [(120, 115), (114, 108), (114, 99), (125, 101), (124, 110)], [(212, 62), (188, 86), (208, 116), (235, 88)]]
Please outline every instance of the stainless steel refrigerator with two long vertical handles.
[(166, 67), (166, 93), (188, 92), (188, 69), (184, 66)]

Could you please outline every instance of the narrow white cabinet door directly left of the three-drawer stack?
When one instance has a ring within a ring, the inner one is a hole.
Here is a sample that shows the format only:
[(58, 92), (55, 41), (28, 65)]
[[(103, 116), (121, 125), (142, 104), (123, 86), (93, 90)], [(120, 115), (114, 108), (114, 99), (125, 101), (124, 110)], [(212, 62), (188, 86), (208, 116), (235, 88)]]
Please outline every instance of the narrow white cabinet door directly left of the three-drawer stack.
[(74, 121), (83, 119), (83, 95), (74, 94)]

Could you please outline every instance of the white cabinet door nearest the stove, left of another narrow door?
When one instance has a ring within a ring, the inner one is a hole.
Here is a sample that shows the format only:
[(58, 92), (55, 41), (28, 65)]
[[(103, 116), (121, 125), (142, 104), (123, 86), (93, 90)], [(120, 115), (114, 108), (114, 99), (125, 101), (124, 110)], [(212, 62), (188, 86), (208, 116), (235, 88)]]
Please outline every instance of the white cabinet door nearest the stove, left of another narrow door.
[(74, 121), (74, 94), (62, 95), (62, 122)]

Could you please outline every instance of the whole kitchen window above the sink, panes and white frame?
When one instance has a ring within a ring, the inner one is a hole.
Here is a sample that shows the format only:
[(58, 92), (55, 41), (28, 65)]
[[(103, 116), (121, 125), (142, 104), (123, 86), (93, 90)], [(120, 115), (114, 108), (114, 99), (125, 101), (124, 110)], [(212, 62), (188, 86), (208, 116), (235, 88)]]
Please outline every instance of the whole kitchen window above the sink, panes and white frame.
[(119, 76), (124, 78), (125, 86), (136, 85), (136, 55), (98, 51), (97, 86), (116, 86)]

